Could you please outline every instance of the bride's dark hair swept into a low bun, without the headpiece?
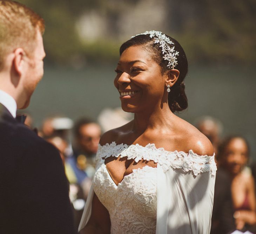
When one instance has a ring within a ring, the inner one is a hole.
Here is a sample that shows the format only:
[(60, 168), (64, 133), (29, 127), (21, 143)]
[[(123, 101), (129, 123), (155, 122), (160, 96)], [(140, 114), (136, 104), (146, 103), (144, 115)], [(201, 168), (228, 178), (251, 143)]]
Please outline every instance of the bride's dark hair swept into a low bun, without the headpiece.
[[(188, 61), (180, 43), (172, 37), (168, 35), (166, 36), (170, 38), (174, 43), (173, 46), (175, 46), (175, 50), (179, 52), (178, 56), (176, 56), (178, 64), (175, 66), (175, 69), (180, 71), (180, 76), (178, 77), (177, 82), (170, 88), (171, 91), (168, 94), (168, 105), (172, 112), (182, 111), (188, 107), (188, 99), (185, 94), (185, 84), (183, 82), (188, 72)], [(120, 55), (124, 50), (131, 46), (143, 46), (143, 48), (151, 54), (154, 61), (159, 64), (162, 74), (170, 70), (170, 68), (167, 67), (168, 61), (163, 59), (162, 49), (159, 47), (159, 43), (154, 43), (154, 40), (152, 40), (149, 35), (138, 35), (124, 42), (119, 50)]]

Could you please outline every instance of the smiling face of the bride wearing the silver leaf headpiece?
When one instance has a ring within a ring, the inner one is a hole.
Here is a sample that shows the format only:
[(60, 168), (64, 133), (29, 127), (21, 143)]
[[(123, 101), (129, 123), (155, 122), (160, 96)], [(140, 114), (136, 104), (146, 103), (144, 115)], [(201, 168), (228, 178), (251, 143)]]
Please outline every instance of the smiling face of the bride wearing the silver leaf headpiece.
[(124, 50), (115, 71), (114, 85), (124, 111), (150, 110), (161, 103), (167, 75), (142, 46)]

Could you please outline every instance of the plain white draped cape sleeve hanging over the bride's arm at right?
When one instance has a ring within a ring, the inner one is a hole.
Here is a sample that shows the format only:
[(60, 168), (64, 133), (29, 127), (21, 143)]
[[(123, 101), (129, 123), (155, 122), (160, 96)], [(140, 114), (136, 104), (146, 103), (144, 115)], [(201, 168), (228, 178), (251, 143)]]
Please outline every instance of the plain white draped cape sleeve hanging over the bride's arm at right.
[[(216, 167), (215, 163), (212, 166)], [(167, 170), (158, 163), (157, 234), (210, 233), (215, 171), (197, 174), (184, 168)]]

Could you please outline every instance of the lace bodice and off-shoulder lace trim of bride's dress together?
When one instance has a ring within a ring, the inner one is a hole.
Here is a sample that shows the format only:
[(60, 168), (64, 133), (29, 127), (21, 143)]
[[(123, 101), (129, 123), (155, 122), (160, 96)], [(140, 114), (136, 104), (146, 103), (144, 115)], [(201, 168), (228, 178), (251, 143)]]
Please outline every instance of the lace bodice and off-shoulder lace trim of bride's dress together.
[[(161, 173), (159, 173), (160, 169), (144, 166), (141, 169), (134, 169), (131, 174), (123, 178), (121, 183), (116, 185), (105, 165), (105, 159), (110, 156), (127, 157), (127, 159), (134, 159), (136, 162), (153, 160), (157, 163), (157, 168), (161, 167), (160, 172), (172, 170), (174, 177), (177, 175), (175, 170), (180, 170), (181, 174), (189, 173), (192, 178), (204, 172), (214, 176), (216, 172), (214, 157), (198, 156), (192, 150), (189, 153), (170, 152), (163, 148), (157, 149), (154, 144), (128, 146), (126, 144), (117, 145), (113, 142), (103, 146), (99, 145), (92, 186), (97, 197), (109, 212), (112, 234), (156, 233), (157, 213), (159, 213), (157, 211), (157, 203), (159, 202), (157, 201), (157, 188), (160, 184)], [(177, 181), (170, 182), (174, 183), (174, 188)], [(181, 187), (178, 190), (182, 190), (182, 183), (178, 186)], [(177, 194), (178, 197), (182, 197), (182, 194)], [(169, 198), (171, 198), (171, 194)], [(174, 195), (173, 198), (175, 199)], [(184, 209), (183, 207), (187, 206), (186, 200), (181, 202), (184, 203), (181, 209)], [(194, 232), (191, 231), (191, 233)]]

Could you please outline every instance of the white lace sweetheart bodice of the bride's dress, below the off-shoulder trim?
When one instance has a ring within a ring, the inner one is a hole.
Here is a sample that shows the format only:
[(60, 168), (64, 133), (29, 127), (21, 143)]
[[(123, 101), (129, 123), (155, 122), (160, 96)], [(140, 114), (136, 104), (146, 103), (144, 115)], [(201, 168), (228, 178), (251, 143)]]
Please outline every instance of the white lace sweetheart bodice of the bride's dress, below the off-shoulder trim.
[(134, 169), (116, 185), (105, 164), (97, 167), (94, 192), (108, 209), (112, 234), (156, 232), (156, 169)]

